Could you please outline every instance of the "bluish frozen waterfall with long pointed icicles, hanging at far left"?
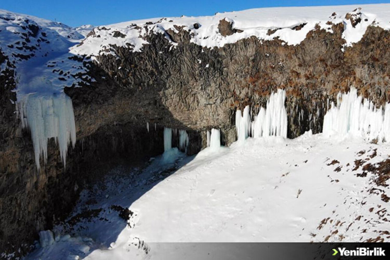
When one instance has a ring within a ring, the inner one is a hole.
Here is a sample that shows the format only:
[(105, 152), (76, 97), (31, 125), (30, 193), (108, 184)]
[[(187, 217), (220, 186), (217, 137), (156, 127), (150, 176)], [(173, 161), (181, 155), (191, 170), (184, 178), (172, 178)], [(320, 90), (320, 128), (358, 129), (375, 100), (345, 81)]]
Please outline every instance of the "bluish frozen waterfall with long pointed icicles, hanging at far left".
[(60, 149), (64, 167), (68, 145), (76, 144), (72, 100), (66, 94), (53, 96), (27, 95), (18, 103), (18, 112), (23, 128), (30, 129), (34, 146), (35, 164), (40, 168), (41, 155), (46, 163), (48, 139), (55, 138)]

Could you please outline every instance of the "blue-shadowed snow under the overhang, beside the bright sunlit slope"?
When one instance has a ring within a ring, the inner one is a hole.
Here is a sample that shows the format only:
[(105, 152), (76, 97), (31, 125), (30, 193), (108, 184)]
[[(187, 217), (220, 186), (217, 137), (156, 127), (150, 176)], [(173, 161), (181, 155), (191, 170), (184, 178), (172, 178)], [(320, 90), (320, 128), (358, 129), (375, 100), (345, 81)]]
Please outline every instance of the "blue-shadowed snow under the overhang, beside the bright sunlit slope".
[[(54, 233), (61, 233), (60, 240), (49, 248), (36, 249), (25, 259), (69, 259), (73, 255), (85, 258), (96, 249), (110, 248), (121, 232), (131, 226), (129, 216), (138, 214), (128, 208), (195, 156), (172, 148), (136, 166), (124, 162), (106, 171), (104, 180), (98, 178), (81, 192), (67, 220), (53, 228)], [(66, 234), (71, 238), (64, 240)]]

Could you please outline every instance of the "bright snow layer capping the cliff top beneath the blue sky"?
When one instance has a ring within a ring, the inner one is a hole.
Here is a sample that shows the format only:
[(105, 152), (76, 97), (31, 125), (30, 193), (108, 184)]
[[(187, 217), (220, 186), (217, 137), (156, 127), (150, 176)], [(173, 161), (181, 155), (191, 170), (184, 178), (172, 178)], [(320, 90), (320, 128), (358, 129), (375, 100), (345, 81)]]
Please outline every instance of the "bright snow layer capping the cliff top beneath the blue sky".
[[(218, 25), (225, 19), (236, 32), (223, 36)], [(102, 55), (111, 52), (110, 45), (128, 46), (133, 52), (148, 44), (148, 32), (165, 33), (187, 30), (191, 42), (213, 48), (255, 36), (262, 40), (279, 38), (287, 45), (297, 45), (316, 25), (332, 32), (332, 25), (343, 23), (346, 46), (358, 42), (367, 26), (390, 28), (390, 4), (344, 5), (319, 7), (277, 7), (216, 13), (214, 16), (153, 18), (97, 27), (94, 34), (74, 47), (72, 52)], [(167, 36), (169, 39), (169, 37)], [(175, 45), (175, 43), (172, 43)]]

